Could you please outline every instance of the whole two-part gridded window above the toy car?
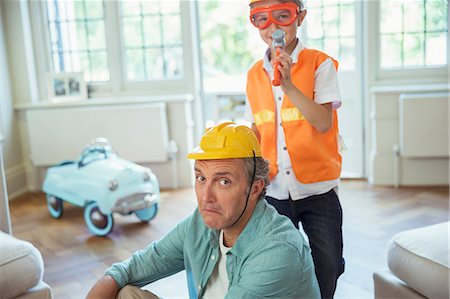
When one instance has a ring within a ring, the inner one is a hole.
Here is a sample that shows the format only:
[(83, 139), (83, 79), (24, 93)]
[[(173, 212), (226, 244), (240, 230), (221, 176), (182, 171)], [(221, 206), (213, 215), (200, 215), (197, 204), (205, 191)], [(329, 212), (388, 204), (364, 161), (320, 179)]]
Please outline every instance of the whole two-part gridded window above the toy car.
[(51, 72), (104, 85), (185, 78), (179, 0), (43, 3)]

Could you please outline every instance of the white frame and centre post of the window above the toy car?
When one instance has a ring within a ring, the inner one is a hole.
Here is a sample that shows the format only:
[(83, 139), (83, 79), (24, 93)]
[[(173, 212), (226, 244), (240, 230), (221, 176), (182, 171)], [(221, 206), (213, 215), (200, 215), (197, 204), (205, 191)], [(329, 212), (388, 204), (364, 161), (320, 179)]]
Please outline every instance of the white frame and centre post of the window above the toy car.
[[(182, 94), (194, 92), (194, 65), (191, 30), (191, 1), (180, 1), (181, 44), (183, 49), (183, 76), (174, 79), (130, 81), (125, 74), (125, 46), (121, 28), (119, 1), (103, 1), (105, 14), (105, 39), (110, 80), (105, 83), (89, 83), (90, 98), (111, 98), (117, 96)], [(53, 70), (48, 18), (45, 1), (30, 1), (32, 40), (36, 57), (39, 96), (41, 101), (49, 101), (47, 77)], [(119, 63), (117, 63), (119, 61)]]

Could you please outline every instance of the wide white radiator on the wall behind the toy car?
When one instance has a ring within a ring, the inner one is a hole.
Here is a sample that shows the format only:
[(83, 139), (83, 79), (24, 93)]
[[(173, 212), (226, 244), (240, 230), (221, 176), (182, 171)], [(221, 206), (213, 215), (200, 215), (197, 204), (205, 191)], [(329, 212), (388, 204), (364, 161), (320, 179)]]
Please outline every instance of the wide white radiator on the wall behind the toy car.
[(38, 108), (28, 110), (26, 119), (35, 166), (77, 159), (96, 137), (107, 138), (120, 157), (133, 162), (168, 160), (165, 103)]

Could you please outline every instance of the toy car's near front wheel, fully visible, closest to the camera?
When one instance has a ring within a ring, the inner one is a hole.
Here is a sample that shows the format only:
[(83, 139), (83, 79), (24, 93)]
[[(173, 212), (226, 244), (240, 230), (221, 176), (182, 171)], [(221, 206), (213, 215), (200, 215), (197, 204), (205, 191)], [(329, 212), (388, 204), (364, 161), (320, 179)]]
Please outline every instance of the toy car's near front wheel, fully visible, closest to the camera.
[(114, 226), (112, 214), (103, 214), (95, 202), (84, 208), (84, 221), (91, 233), (101, 237), (109, 234)]

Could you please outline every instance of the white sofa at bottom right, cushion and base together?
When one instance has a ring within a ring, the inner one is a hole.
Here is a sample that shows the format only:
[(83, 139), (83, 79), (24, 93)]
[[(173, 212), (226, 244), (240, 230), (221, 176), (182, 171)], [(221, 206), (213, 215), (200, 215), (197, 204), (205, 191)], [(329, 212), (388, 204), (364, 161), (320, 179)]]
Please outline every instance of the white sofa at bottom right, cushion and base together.
[(388, 244), (388, 268), (373, 275), (375, 299), (449, 297), (450, 222), (395, 235)]

